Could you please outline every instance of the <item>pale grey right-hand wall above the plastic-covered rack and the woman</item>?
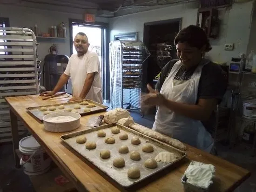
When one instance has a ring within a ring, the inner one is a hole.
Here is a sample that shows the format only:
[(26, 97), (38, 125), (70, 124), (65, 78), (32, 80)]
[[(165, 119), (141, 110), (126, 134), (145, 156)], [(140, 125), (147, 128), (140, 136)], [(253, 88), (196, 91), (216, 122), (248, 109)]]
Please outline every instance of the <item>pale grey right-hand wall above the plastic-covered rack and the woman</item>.
[[(246, 53), (252, 9), (253, 1), (236, 3), (230, 8), (220, 9), (220, 36), (216, 40), (211, 40), (213, 50), (209, 53), (213, 61), (229, 62), (231, 57)], [(110, 40), (113, 40), (115, 34), (128, 32), (138, 32), (139, 40), (143, 40), (143, 25), (147, 22), (182, 18), (182, 28), (191, 24), (195, 25), (197, 10), (197, 4), (187, 3), (112, 18), (110, 19)], [(225, 51), (224, 43), (234, 43), (235, 49)]]

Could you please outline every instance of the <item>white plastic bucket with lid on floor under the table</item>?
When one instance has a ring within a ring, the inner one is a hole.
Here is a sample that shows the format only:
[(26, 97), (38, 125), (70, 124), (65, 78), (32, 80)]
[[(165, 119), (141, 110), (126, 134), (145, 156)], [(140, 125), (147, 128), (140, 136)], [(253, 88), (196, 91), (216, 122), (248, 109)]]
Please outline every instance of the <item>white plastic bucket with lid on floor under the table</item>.
[(22, 153), (20, 165), (27, 175), (40, 175), (50, 169), (51, 159), (33, 136), (20, 140), (19, 149)]

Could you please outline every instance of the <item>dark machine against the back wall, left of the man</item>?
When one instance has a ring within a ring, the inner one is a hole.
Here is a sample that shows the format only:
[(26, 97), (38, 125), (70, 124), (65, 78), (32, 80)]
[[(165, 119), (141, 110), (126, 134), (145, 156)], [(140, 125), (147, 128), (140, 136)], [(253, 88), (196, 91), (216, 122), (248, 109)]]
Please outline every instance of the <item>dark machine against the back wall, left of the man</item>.
[[(53, 90), (61, 74), (67, 67), (69, 58), (66, 55), (48, 54), (44, 58), (43, 86), (47, 90)], [(66, 91), (67, 84), (60, 91)]]

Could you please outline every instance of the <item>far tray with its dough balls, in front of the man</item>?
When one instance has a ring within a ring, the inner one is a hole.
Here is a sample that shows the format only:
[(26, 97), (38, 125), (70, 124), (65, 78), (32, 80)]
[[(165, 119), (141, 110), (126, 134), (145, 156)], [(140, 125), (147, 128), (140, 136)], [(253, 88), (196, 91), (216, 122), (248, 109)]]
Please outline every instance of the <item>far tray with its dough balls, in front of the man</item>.
[(79, 113), (80, 115), (88, 115), (92, 113), (105, 111), (106, 109), (108, 109), (108, 106), (104, 106), (100, 103), (97, 103), (89, 99), (46, 106), (27, 107), (27, 111), (40, 121), (43, 121), (43, 117), (45, 115), (54, 112), (65, 111)]

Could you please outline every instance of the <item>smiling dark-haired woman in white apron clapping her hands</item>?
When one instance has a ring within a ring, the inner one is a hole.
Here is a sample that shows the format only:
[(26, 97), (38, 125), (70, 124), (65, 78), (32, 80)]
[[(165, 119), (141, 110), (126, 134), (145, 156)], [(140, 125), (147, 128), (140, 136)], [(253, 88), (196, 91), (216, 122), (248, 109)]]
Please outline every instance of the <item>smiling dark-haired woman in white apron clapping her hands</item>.
[(204, 122), (227, 89), (225, 73), (204, 59), (212, 47), (200, 27), (182, 29), (175, 46), (179, 60), (163, 67), (155, 90), (147, 86), (150, 93), (142, 97), (142, 108), (158, 106), (153, 130), (210, 152), (213, 138)]

